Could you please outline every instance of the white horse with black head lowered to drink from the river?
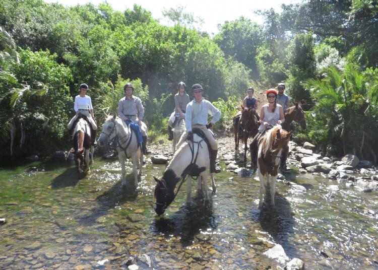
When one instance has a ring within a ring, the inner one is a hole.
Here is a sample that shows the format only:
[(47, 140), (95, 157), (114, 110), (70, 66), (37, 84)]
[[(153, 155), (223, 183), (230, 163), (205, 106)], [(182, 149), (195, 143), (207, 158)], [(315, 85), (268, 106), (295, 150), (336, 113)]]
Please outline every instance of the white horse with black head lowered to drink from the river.
[[(193, 130), (195, 132), (195, 128)], [(154, 176), (156, 181), (154, 198), (156, 199), (155, 212), (159, 216), (164, 213), (165, 209), (172, 203), (176, 197), (183, 182), (189, 178), (197, 177), (197, 192), (202, 189), (205, 190), (205, 200), (208, 201), (208, 185), (206, 182), (207, 169), (210, 168), (210, 152), (204, 139), (198, 134), (194, 133), (194, 142), (183, 143), (176, 153), (173, 155), (172, 160), (169, 162), (164, 171), (163, 177), (158, 179)], [(216, 185), (214, 176), (210, 173), (213, 193), (216, 192)], [(174, 189), (176, 184), (180, 182), (176, 193)], [(192, 181), (186, 181), (186, 204), (190, 203), (192, 192)]]

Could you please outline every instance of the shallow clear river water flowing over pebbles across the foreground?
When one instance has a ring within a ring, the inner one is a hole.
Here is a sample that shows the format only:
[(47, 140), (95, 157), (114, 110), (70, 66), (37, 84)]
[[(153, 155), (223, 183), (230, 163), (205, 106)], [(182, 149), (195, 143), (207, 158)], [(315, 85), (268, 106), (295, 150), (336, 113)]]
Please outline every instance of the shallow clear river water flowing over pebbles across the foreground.
[(306, 269), (378, 268), (376, 191), (293, 170), (287, 179), (307, 191), (278, 182), (276, 209), (260, 211), (257, 175), (222, 166), (209, 203), (193, 190), (186, 207), (181, 188), (162, 217), (152, 176), (164, 165), (147, 163), (137, 190), (120, 187), (118, 161), (96, 158), (83, 176), (51, 162), (2, 167), (0, 268), (126, 269), (130, 256), (147, 254), (155, 269), (266, 269), (263, 253), (276, 244)]

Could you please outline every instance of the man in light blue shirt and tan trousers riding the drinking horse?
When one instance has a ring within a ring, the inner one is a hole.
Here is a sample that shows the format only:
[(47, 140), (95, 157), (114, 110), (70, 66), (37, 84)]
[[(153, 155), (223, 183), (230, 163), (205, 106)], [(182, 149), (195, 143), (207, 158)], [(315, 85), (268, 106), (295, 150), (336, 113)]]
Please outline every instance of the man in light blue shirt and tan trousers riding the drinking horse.
[[(177, 144), (179, 147), (186, 139), (193, 141), (192, 128), (197, 127), (204, 131), (206, 139), (209, 141), (211, 147), (210, 153), (210, 172), (218, 173), (221, 169), (216, 166), (216, 159), (218, 153), (218, 143), (214, 138), (213, 132), (210, 128), (222, 116), (221, 112), (210, 101), (202, 97), (204, 90), (200, 84), (192, 86), (192, 93), (194, 99), (186, 106), (185, 113), (185, 127), (186, 131), (182, 133), (180, 141)], [(213, 119), (208, 123), (208, 114), (213, 116)]]

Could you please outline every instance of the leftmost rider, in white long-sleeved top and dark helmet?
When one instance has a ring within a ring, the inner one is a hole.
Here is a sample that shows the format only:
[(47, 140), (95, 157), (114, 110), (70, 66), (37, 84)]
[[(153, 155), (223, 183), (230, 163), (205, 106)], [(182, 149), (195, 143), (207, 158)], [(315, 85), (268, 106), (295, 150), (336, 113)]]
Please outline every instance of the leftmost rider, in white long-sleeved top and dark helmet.
[[(75, 116), (68, 123), (67, 127), (71, 130), (74, 127), (74, 123), (77, 120), (79, 113), (85, 115), (91, 126), (91, 144), (92, 146), (97, 146), (96, 135), (97, 135), (97, 125), (94, 120), (92, 100), (90, 96), (87, 96), (86, 93), (89, 91), (87, 84), (81, 84), (79, 86), (80, 95), (75, 97), (74, 110), (76, 112)], [(78, 152), (83, 151), (83, 145), (79, 145)]]

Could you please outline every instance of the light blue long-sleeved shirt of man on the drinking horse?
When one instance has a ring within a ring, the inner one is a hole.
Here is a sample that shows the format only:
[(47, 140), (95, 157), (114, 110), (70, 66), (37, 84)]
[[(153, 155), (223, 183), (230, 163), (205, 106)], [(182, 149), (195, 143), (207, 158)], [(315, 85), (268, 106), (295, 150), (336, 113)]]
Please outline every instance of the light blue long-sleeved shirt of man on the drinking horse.
[(201, 102), (197, 102), (193, 99), (186, 105), (185, 112), (185, 127), (187, 131), (192, 131), (193, 124), (206, 125), (208, 115), (212, 115), (213, 119), (211, 123), (215, 124), (222, 116), (221, 112), (215, 108), (210, 101), (202, 99)]

